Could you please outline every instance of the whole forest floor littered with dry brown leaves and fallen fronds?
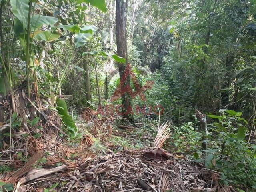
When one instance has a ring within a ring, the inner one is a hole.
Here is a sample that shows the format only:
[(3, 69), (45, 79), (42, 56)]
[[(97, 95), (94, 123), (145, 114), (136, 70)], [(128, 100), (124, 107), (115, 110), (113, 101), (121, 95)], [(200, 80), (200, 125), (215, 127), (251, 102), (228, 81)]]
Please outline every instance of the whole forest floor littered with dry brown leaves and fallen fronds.
[(174, 145), (152, 148), (155, 122), (81, 114), (76, 126), (82, 139), (67, 141), (54, 127), (38, 138), (17, 134), (15, 147), (1, 152), (6, 171), (0, 184), (19, 192), (234, 191), (219, 184), (220, 173), (189, 160)]

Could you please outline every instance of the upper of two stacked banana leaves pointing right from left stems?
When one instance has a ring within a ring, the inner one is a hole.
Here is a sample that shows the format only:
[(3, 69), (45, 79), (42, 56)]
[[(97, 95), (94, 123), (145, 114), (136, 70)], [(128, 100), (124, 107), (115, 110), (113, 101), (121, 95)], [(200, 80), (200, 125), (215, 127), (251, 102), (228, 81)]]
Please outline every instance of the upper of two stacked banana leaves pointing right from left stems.
[(31, 29), (34, 30), (35, 28), (41, 28), (42, 25), (53, 26), (56, 22), (58, 22), (58, 18), (56, 17), (34, 15), (31, 18)]

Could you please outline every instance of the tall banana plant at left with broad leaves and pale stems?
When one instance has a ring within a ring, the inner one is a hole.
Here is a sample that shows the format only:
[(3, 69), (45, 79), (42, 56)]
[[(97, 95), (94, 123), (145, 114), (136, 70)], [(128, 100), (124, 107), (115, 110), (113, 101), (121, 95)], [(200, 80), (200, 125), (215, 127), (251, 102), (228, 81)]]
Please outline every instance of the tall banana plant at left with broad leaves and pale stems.
[[(42, 15), (47, 2), (48, 0), (46, 0), (42, 5), (42, 8), (38, 10), (36, 2), (32, 2), (32, 0), (10, 0), (12, 13), (14, 14), (14, 32), (20, 40), (20, 44), (22, 45), (26, 58), (28, 98), (30, 98), (30, 81), (32, 78), (34, 91), (36, 93), (36, 97), (38, 97), (38, 80), (36, 76), (37, 65), (35, 63), (35, 56), (32, 51), (32, 44), (42, 41), (54, 42), (58, 40), (62, 35), (60, 32), (60, 28), (62, 28), (74, 34), (75, 49), (88, 42), (88, 40), (92, 38), (94, 32), (97, 30), (97, 28), (93, 25), (84, 25), (82, 27), (78, 25), (57, 25), (58, 18)], [(39, 14), (34, 14), (35, 12), (39, 12)], [(42, 50), (44, 50), (44, 48)], [(42, 52), (39, 56), (39, 61), (41, 57)], [(71, 60), (72, 58), (70, 58), (70, 61)], [(60, 80), (58, 89), (60, 88), (64, 77), (67, 75), (66, 73), (70, 65), (70, 61), (66, 64), (65, 70), (62, 73), (62, 78)]]

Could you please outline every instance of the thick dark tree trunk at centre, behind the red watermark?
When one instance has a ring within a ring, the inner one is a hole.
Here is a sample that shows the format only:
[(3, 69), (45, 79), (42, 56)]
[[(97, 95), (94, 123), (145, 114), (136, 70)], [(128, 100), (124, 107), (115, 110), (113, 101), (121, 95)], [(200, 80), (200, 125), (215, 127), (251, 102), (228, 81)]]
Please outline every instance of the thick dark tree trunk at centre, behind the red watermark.
[(128, 0), (116, 0), (116, 46), (117, 54), (120, 57), (126, 59), (126, 64), (118, 63), (120, 84), (121, 84), (121, 95), (122, 95), (122, 115), (128, 117), (131, 113), (131, 100), (130, 95), (126, 91), (127, 87), (130, 86), (130, 74), (124, 74), (128, 72), (126, 66), (128, 66), (127, 56), (127, 34), (126, 34), (126, 11), (127, 11)]

